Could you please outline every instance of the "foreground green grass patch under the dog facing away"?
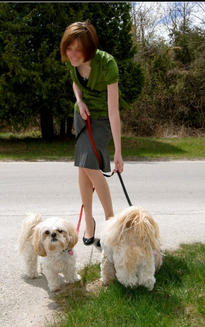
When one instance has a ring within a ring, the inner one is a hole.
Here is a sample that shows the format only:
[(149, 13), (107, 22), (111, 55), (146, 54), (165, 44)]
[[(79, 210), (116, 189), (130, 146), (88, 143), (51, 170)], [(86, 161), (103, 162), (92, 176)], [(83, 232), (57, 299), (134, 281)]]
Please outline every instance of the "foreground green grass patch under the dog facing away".
[(100, 265), (86, 266), (81, 282), (56, 295), (63, 318), (46, 326), (204, 326), (205, 245), (181, 244), (166, 254), (151, 292), (118, 281), (102, 286)]

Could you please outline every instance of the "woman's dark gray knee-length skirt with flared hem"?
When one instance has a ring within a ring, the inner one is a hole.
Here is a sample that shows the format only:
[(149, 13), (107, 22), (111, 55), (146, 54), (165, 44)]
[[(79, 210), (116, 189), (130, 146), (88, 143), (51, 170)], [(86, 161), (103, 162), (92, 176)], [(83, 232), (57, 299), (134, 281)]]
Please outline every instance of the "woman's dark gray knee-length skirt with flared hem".
[(104, 173), (110, 172), (111, 168), (108, 145), (112, 133), (109, 118), (98, 117), (97, 120), (91, 119), (91, 131), (95, 147), (100, 157), (100, 167), (88, 131), (86, 128), (82, 130), (84, 126), (84, 119), (81, 117), (80, 113), (74, 110), (74, 127), (77, 138), (74, 166), (102, 170)]

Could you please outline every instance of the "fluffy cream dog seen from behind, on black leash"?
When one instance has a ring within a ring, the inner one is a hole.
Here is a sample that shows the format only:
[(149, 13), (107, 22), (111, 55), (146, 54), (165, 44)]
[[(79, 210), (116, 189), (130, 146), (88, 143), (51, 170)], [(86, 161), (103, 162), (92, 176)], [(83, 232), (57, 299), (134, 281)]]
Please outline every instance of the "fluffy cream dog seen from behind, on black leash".
[(101, 282), (117, 278), (127, 286), (152, 290), (162, 265), (159, 228), (151, 215), (131, 206), (105, 222), (101, 231)]

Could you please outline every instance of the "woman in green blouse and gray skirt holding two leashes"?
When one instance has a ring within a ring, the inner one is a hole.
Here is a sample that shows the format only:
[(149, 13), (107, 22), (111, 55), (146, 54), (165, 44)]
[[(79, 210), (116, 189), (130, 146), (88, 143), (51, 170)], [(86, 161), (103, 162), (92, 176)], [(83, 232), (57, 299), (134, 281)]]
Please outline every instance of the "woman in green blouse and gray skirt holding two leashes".
[[(69, 25), (61, 40), (61, 58), (70, 69), (76, 97), (74, 165), (79, 167), (79, 187), (85, 214), (85, 245), (92, 244), (95, 237), (93, 187), (104, 209), (106, 220), (113, 216), (110, 189), (102, 171), (111, 171), (108, 145), (113, 137), (115, 172), (123, 172), (119, 99), (123, 106), (128, 106), (118, 89), (119, 73), (115, 59), (107, 52), (97, 49), (97, 45), (95, 28), (87, 22)], [(100, 167), (88, 131), (83, 129), (87, 115), (91, 118), (92, 136), (100, 157)], [(100, 240), (97, 245), (100, 246)]]

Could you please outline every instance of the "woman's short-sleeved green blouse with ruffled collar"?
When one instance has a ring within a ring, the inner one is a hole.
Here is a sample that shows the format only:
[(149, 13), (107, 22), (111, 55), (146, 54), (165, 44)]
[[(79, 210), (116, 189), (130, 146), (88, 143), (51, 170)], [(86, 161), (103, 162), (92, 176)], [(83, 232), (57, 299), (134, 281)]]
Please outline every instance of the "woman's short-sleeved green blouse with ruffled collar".
[[(119, 81), (119, 71), (117, 63), (113, 56), (105, 51), (97, 50), (92, 58), (90, 67), (91, 72), (88, 79), (87, 87), (79, 82), (76, 67), (72, 66), (70, 61), (68, 65), (71, 77), (78, 88), (82, 91), (82, 100), (87, 105), (91, 118), (97, 119), (99, 116), (108, 117), (108, 91), (107, 86)], [(122, 99), (119, 92), (119, 105), (123, 108), (131, 109), (130, 106)], [(80, 113), (77, 101), (74, 109)]]

